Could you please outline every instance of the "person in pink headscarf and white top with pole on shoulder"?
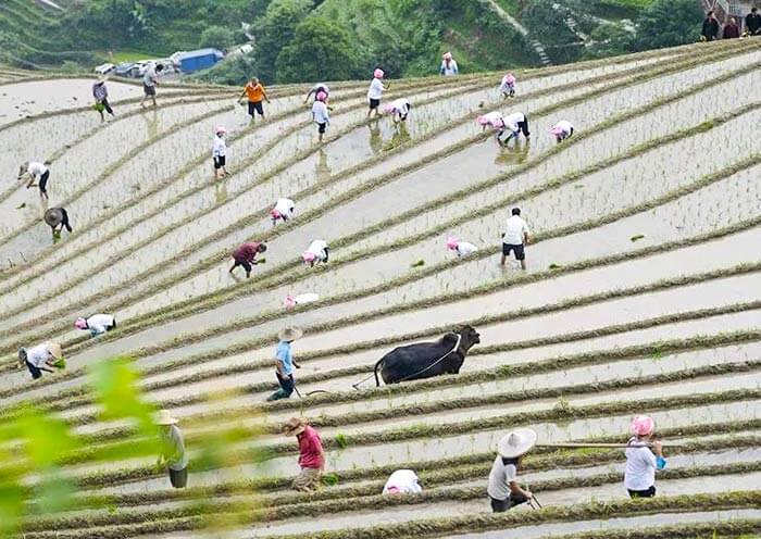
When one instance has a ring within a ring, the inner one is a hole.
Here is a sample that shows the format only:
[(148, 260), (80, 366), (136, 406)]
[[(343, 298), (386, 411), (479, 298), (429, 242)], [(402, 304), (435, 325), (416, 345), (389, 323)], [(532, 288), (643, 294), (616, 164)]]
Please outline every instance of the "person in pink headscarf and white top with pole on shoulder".
[(626, 443), (626, 469), (624, 487), (631, 498), (652, 498), (656, 496), (656, 471), (666, 465), (663, 459), (663, 446), (660, 441), (650, 441), (656, 429), (656, 422), (647, 415), (632, 419), (634, 436)]

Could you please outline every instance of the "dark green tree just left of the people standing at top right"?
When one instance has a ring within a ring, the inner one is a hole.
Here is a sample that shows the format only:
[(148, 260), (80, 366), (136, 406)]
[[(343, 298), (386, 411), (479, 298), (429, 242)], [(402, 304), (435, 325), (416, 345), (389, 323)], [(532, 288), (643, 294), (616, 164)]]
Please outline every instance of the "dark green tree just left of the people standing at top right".
[(656, 0), (637, 17), (637, 50), (697, 41), (703, 12), (694, 0)]

